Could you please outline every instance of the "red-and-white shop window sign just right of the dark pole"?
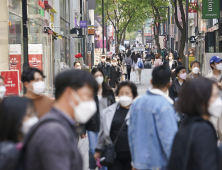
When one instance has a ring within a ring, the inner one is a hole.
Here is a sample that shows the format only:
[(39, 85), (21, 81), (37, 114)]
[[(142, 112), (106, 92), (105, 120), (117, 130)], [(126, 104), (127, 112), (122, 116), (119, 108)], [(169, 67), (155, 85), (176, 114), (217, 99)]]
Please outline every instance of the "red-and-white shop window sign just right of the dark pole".
[(29, 65), (42, 70), (42, 44), (29, 44)]

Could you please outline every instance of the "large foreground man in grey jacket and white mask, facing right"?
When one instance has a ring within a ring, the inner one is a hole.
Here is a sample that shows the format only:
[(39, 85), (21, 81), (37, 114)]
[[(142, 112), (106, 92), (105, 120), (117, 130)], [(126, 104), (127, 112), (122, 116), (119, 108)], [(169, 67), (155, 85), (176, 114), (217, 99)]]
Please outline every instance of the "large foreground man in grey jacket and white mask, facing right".
[(83, 169), (77, 146), (78, 123), (85, 124), (95, 114), (97, 91), (95, 78), (86, 71), (72, 69), (57, 75), (55, 103), (40, 119), (26, 147), (26, 170)]

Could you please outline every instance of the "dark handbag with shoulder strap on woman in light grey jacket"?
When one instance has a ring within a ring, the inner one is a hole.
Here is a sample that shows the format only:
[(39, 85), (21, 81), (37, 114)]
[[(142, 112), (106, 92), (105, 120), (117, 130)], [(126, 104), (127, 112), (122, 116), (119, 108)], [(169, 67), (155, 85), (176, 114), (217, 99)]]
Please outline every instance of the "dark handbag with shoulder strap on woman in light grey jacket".
[(116, 159), (115, 144), (116, 144), (116, 142), (117, 142), (117, 140), (118, 140), (118, 138), (119, 138), (119, 135), (120, 135), (120, 133), (122, 132), (124, 126), (126, 125), (126, 121), (127, 121), (127, 120), (128, 120), (128, 119), (126, 119), (126, 120), (123, 122), (123, 124), (122, 124), (122, 126), (121, 126), (121, 128), (120, 128), (120, 130), (119, 130), (119, 132), (118, 132), (118, 135), (117, 135), (116, 139), (114, 140), (114, 142), (113, 142), (112, 144), (106, 146), (106, 147), (102, 150), (101, 157), (100, 157), (100, 164), (101, 164), (102, 166), (107, 166), (107, 167), (109, 167), (110, 165), (112, 165), (112, 164), (114, 163), (114, 161), (115, 161), (115, 159)]

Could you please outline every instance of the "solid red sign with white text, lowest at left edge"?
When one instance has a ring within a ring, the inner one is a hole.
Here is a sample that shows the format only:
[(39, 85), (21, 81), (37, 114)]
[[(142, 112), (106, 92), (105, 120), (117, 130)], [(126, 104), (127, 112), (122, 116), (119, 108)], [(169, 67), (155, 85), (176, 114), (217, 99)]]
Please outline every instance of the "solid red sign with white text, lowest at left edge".
[(4, 78), (6, 93), (5, 96), (19, 95), (19, 71), (7, 70), (0, 71), (1, 76)]

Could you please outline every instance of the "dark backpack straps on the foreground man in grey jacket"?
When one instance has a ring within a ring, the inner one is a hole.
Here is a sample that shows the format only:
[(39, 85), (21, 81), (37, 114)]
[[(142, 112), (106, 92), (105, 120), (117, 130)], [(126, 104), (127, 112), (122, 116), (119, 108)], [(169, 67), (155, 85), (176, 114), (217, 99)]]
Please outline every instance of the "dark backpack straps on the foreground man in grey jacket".
[[(73, 132), (70, 130), (70, 128), (65, 124), (63, 123), (62, 121), (58, 120), (58, 119), (54, 119), (54, 118), (50, 118), (50, 119), (45, 119), (45, 120), (42, 120), (40, 122), (38, 122), (36, 125), (34, 125), (31, 130), (29, 131), (29, 133), (27, 134), (27, 136), (25, 137), (24, 139), (24, 146), (20, 152), (20, 156), (19, 156), (19, 160), (18, 160), (18, 166), (17, 166), (17, 170), (24, 170), (25, 169), (25, 154), (26, 154), (26, 149), (27, 149), (27, 144), (28, 142), (30, 141), (30, 139), (32, 138), (32, 136), (35, 134), (35, 132), (37, 131), (37, 129), (42, 126), (43, 124), (45, 123), (48, 123), (48, 122), (57, 122), (61, 125), (63, 125), (69, 134), (72, 134)], [(74, 142), (74, 138), (72, 137), (72, 142)], [(74, 169), (74, 165), (73, 165), (73, 160), (74, 160), (74, 151), (73, 149), (71, 148), (71, 145), (70, 145), (70, 149), (71, 149), (71, 169)]]

